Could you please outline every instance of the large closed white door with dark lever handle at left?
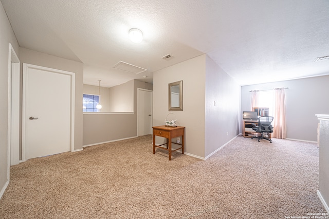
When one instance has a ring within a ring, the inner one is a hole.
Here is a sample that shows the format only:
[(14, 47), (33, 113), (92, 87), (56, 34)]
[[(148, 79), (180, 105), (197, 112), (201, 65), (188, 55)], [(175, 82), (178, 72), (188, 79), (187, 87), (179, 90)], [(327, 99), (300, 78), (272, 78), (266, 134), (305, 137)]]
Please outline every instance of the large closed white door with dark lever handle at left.
[(23, 160), (69, 151), (71, 75), (29, 64), (23, 71)]

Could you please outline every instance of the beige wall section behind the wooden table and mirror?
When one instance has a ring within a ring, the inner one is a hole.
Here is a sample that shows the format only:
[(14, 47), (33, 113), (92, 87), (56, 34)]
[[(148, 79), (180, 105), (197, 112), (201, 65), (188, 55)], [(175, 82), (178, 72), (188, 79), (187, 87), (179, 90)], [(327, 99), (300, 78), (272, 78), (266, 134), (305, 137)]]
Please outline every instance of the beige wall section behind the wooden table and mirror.
[[(165, 125), (168, 110), (168, 84), (183, 81), (183, 111), (173, 111), (178, 126), (186, 127), (185, 152), (205, 157), (206, 55), (153, 73), (153, 126)], [(165, 142), (156, 137), (157, 144)], [(173, 145), (174, 147), (175, 145)]]

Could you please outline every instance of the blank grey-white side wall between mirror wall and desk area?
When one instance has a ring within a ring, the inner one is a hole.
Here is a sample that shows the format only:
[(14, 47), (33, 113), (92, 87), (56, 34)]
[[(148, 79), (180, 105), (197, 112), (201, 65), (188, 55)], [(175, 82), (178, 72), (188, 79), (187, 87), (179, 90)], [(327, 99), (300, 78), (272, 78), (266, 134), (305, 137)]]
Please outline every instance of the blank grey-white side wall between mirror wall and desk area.
[(239, 111), (239, 84), (206, 56), (206, 157), (240, 133)]

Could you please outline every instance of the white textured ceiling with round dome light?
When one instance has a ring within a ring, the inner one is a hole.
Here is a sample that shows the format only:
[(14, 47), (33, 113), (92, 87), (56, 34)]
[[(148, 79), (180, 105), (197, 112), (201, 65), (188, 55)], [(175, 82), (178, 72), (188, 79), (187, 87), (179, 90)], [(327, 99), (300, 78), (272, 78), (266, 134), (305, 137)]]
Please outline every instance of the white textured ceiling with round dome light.
[[(241, 85), (329, 74), (329, 60), (314, 62), (329, 55), (328, 0), (1, 2), (21, 47), (84, 63), (85, 84), (152, 82), (154, 71), (202, 54)], [(148, 71), (114, 69), (120, 61)]]

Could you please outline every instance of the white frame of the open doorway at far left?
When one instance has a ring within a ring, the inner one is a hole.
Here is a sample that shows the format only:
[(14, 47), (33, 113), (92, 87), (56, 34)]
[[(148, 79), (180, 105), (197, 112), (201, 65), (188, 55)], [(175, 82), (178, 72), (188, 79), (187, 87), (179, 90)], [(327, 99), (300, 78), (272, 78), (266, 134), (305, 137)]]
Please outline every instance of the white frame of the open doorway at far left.
[(21, 62), (9, 43), (8, 54), (8, 180), (10, 166), (20, 163), (20, 67)]

